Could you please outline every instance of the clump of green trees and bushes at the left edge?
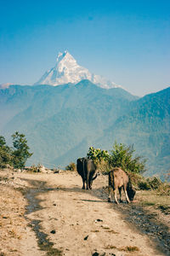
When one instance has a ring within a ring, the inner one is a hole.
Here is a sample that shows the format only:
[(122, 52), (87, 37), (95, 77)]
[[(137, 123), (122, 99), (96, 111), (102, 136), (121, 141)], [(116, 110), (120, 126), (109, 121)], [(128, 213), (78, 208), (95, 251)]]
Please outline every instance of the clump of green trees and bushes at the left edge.
[(24, 134), (16, 131), (13, 135), (13, 148), (8, 147), (5, 138), (0, 136), (0, 167), (7, 165), (14, 168), (24, 168), (26, 160), (31, 157), (27, 140)]

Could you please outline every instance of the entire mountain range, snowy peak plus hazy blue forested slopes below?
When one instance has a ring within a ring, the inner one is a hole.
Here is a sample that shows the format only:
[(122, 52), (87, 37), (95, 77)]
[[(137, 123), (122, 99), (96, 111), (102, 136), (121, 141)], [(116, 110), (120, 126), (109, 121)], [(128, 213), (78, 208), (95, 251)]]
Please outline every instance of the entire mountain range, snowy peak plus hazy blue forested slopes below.
[(170, 170), (170, 88), (139, 98), (107, 80), (94, 84), (89, 79), (95, 75), (88, 74), (65, 51), (35, 85), (3, 86), (0, 135), (10, 143), (15, 131), (26, 134), (33, 152), (27, 165), (49, 167), (65, 167), (90, 146), (111, 150), (115, 141), (133, 144), (147, 159), (145, 174), (165, 178)]

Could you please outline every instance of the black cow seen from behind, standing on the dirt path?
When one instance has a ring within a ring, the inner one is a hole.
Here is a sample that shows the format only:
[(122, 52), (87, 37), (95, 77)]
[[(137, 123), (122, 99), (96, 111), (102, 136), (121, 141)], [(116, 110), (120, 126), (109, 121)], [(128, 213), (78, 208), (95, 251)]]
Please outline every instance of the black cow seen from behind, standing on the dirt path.
[(85, 189), (85, 183), (86, 189), (92, 189), (92, 183), (97, 177), (96, 169), (93, 160), (85, 157), (77, 159), (77, 172), (82, 177), (82, 189)]

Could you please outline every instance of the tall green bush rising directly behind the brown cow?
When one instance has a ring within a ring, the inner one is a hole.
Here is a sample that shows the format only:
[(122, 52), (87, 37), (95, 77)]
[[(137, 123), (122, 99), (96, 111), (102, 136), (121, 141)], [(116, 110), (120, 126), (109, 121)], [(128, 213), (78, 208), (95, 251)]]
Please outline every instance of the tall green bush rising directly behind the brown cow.
[(109, 164), (112, 167), (121, 167), (124, 171), (142, 173), (145, 172), (145, 161), (141, 156), (133, 157), (133, 145), (126, 146), (122, 143), (114, 143), (111, 150)]

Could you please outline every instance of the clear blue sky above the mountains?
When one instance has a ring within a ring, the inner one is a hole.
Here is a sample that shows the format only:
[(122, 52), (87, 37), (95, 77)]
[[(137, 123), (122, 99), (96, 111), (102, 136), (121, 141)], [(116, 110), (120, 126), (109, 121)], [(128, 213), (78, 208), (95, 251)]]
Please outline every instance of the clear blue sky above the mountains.
[(169, 86), (170, 1), (0, 0), (0, 84), (33, 84), (67, 49), (144, 96)]

